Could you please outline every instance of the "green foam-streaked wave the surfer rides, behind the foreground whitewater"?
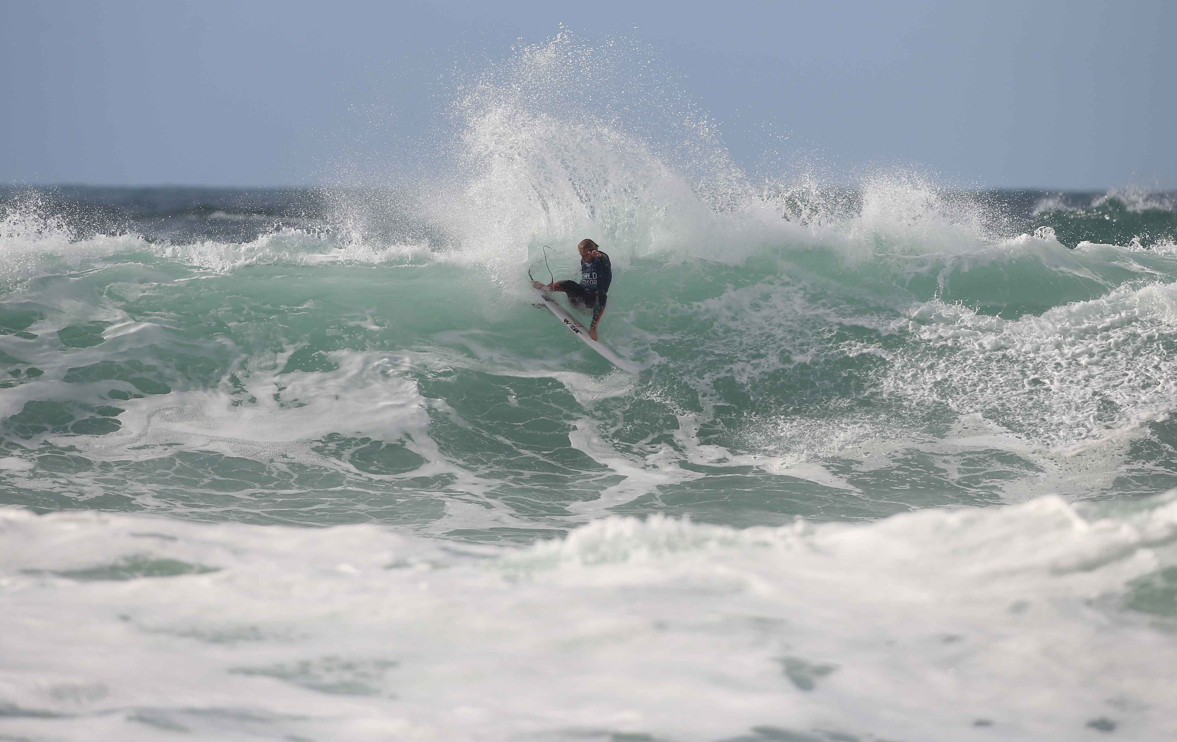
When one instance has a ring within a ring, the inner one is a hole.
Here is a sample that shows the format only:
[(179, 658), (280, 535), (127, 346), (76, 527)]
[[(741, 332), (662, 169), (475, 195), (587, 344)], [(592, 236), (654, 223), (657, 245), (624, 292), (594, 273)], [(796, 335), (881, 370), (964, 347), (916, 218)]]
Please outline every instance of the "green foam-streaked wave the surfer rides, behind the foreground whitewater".
[(995, 238), (982, 196), (931, 195), (679, 205), (729, 243), (653, 238), (647, 209), (600, 240), (603, 339), (636, 377), (531, 305), (527, 269), (573, 275), (584, 232), (380, 242), (321, 207), (184, 243), (18, 201), (0, 502), (530, 541), (609, 513), (776, 524), (1172, 486), (1177, 254)]

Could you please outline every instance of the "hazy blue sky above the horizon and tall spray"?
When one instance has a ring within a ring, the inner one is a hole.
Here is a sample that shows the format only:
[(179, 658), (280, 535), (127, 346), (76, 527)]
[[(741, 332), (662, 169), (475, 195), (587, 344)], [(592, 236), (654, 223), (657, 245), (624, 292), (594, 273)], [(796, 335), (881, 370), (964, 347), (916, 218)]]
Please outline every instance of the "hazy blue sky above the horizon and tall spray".
[(455, 79), (564, 31), (653, 49), (749, 171), (1177, 188), (1173, 28), (1172, 0), (0, 0), (0, 182), (308, 186), (340, 153), (392, 173)]

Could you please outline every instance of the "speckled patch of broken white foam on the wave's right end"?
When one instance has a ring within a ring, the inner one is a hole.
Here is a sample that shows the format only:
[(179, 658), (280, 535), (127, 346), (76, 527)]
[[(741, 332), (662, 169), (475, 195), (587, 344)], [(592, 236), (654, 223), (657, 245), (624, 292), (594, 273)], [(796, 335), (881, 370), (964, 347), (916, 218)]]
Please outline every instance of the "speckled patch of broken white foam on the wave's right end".
[(1131, 433), (1173, 410), (1175, 292), (1121, 288), (1016, 321), (929, 302), (911, 325), (924, 348), (895, 359), (887, 389), (1044, 446)]

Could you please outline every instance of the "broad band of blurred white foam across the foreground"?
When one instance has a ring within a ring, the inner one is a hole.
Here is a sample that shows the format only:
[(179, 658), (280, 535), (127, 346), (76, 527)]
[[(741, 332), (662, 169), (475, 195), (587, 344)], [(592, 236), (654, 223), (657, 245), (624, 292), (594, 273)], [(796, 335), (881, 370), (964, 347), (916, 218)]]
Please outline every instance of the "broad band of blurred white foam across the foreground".
[(1177, 646), (1133, 593), (1177, 561), (1172, 497), (866, 527), (610, 519), (514, 552), (374, 526), (5, 510), (0, 529), (8, 734), (1177, 734)]

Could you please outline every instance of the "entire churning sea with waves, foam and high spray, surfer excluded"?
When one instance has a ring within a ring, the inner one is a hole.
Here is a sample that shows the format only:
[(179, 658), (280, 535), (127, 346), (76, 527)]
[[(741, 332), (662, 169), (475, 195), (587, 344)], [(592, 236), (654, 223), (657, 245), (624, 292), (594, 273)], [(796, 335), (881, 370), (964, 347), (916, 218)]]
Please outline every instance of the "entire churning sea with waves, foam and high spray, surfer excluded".
[(0, 190), (0, 740), (1177, 738), (1173, 194), (753, 175), (643, 54)]

